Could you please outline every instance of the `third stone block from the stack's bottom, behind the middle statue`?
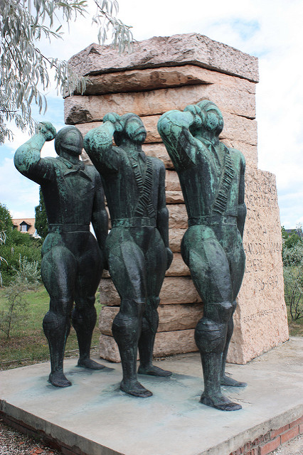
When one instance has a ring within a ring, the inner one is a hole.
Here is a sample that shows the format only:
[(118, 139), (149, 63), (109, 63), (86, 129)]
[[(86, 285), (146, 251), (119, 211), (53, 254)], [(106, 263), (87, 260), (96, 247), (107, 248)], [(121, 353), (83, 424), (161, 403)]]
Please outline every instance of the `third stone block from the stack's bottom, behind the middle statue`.
[[(160, 299), (162, 305), (197, 304), (201, 302), (190, 277), (165, 277)], [(120, 303), (119, 295), (110, 278), (101, 279), (100, 303), (109, 306), (117, 306)]]

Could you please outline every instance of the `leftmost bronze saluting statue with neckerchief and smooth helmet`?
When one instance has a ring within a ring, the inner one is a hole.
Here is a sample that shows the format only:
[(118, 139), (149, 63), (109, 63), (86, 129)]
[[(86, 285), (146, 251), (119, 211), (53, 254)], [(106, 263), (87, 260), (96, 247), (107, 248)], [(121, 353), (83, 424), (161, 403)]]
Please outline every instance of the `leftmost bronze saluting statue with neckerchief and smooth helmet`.
[[(43, 145), (53, 139), (58, 157), (41, 158)], [(78, 366), (104, 368), (90, 359), (90, 343), (108, 220), (100, 175), (80, 161), (82, 150), (83, 137), (77, 128), (65, 127), (56, 134), (52, 124), (43, 122), (14, 156), (18, 171), (41, 185), (46, 205), (48, 235), (42, 247), (41, 275), (50, 309), (43, 330), (50, 348), (49, 381), (56, 387), (71, 385), (63, 373), (70, 318), (78, 337)], [(91, 222), (97, 240), (90, 232)]]

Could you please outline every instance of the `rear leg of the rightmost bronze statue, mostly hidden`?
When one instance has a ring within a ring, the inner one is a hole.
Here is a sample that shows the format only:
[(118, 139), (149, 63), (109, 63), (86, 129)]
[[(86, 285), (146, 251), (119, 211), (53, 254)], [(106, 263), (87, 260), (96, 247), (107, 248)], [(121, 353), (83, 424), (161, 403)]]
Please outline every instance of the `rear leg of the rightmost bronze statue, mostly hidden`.
[(235, 232), (233, 245), (228, 245), (228, 247), (225, 248), (225, 251), (228, 257), (228, 262), (230, 264), (230, 277), (233, 289), (233, 313), (231, 314), (230, 319), (228, 321), (228, 331), (222, 356), (220, 382), (221, 385), (245, 387), (247, 385), (246, 382), (240, 382), (233, 378), (230, 378), (230, 376), (225, 375), (225, 364), (228, 355), (228, 347), (230, 343), (230, 338), (233, 336), (233, 314), (237, 306), (235, 298), (238, 296), (238, 292), (240, 291), (243, 275), (245, 272), (245, 252), (243, 250), (242, 239), (240, 237), (240, 233), (238, 232), (238, 230), (237, 232)]

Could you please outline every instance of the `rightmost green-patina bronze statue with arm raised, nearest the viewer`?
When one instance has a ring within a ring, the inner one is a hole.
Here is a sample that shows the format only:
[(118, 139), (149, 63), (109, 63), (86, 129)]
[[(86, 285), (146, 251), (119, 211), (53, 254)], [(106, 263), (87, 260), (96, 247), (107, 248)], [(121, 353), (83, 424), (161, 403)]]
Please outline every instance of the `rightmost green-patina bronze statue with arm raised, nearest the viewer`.
[(235, 299), (245, 270), (245, 159), (219, 141), (223, 117), (211, 101), (189, 105), (184, 112), (166, 112), (158, 130), (179, 174), (188, 213), (182, 257), (204, 304), (195, 330), (203, 366), (201, 402), (219, 410), (240, 410), (221, 393), (220, 385), (246, 385), (225, 375)]

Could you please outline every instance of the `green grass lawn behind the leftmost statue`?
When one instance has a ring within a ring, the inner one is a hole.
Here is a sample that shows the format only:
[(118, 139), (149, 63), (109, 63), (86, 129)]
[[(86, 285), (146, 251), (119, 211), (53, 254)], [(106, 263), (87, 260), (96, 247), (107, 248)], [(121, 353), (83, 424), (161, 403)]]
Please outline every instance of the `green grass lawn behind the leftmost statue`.
[[(4, 305), (5, 289), (0, 289), (0, 310)], [(49, 360), (48, 342), (42, 329), (43, 317), (48, 311), (49, 297), (46, 289), (41, 286), (37, 291), (26, 293), (28, 316), (11, 329), (9, 340), (0, 332), (0, 370), (29, 365), (37, 361)], [(96, 299), (96, 309), (99, 316), (101, 305)], [(99, 345), (100, 332), (96, 326), (92, 335), (92, 348)], [(72, 327), (65, 348), (65, 357), (77, 355), (70, 352), (78, 349), (77, 337)]]

